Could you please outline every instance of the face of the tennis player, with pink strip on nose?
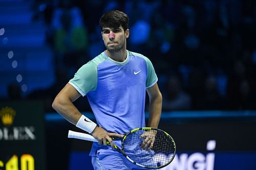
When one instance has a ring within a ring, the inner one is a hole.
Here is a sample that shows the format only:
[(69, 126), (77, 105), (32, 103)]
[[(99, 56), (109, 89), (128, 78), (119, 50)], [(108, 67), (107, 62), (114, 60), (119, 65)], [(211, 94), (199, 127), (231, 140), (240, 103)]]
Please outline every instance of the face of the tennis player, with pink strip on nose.
[(129, 29), (125, 32), (119, 28), (103, 28), (101, 32), (106, 50), (109, 52), (118, 52), (126, 49), (126, 38), (129, 37)]

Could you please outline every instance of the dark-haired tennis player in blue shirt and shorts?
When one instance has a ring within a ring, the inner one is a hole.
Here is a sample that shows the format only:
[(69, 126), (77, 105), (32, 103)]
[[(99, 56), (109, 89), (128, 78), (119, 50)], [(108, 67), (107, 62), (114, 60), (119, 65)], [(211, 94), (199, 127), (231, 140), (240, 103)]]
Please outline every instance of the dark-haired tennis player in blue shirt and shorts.
[[(57, 94), (52, 107), (70, 123), (98, 139), (90, 152), (94, 169), (143, 169), (114, 150), (111, 137), (122, 137), (132, 129), (145, 127), (145, 91), (150, 99), (147, 126), (158, 127), (162, 109), (158, 78), (148, 58), (126, 50), (130, 31), (125, 13), (107, 12), (99, 23), (106, 50), (78, 69)], [(72, 103), (81, 95), (87, 95), (96, 123), (82, 115)], [(152, 142), (147, 139), (145, 145), (153, 145)], [(121, 147), (121, 140), (115, 140), (115, 144)]]

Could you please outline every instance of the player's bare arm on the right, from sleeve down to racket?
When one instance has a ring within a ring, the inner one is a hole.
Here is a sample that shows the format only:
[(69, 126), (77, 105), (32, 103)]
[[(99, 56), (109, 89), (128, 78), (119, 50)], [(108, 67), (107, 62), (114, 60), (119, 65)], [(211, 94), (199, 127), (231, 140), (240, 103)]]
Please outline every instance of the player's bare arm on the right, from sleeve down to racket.
[(148, 127), (158, 128), (162, 111), (162, 94), (157, 83), (154, 86), (147, 88), (146, 91), (150, 98)]

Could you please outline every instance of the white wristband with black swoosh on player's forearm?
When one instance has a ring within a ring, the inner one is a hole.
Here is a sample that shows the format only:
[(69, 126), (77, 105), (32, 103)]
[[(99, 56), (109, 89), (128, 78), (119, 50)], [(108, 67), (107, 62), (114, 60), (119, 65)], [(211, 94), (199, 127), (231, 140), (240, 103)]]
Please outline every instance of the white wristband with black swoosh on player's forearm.
[(93, 130), (96, 128), (96, 126), (97, 126), (97, 124), (92, 122), (92, 120), (90, 120), (88, 117), (84, 116), (83, 114), (79, 118), (78, 122), (76, 123), (77, 128), (80, 128), (89, 133), (92, 133)]

